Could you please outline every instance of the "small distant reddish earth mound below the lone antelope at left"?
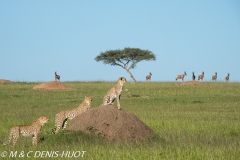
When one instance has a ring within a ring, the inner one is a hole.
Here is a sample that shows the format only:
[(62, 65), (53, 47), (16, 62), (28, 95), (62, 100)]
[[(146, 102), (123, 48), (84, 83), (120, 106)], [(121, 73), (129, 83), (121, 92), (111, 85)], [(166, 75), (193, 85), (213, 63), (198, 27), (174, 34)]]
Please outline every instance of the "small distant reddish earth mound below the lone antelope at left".
[(42, 83), (37, 86), (34, 86), (33, 89), (69, 90), (70, 88), (66, 87), (59, 81), (51, 81), (49, 83)]

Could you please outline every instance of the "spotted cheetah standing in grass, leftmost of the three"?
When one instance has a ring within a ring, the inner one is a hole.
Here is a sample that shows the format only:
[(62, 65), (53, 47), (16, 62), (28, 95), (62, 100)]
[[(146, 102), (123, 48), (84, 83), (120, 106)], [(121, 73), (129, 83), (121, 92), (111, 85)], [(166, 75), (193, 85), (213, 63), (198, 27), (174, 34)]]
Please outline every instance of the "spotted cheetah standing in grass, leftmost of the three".
[(32, 144), (37, 145), (38, 134), (41, 131), (42, 126), (47, 122), (48, 122), (47, 117), (40, 117), (30, 125), (14, 126), (10, 129), (8, 141), (3, 144), (4, 145), (9, 144), (11, 139), (13, 138), (13, 146), (15, 146), (20, 134), (22, 134), (23, 136), (32, 136)]

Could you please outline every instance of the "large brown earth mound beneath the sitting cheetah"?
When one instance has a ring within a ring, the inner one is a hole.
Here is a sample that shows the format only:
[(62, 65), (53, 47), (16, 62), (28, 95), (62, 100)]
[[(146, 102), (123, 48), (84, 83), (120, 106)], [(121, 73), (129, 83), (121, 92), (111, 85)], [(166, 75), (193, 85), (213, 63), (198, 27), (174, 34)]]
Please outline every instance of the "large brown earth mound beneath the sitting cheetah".
[(76, 116), (67, 129), (93, 133), (116, 142), (145, 140), (154, 135), (154, 131), (134, 114), (113, 105), (99, 106)]

